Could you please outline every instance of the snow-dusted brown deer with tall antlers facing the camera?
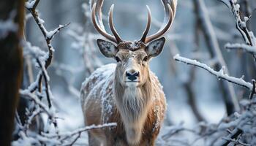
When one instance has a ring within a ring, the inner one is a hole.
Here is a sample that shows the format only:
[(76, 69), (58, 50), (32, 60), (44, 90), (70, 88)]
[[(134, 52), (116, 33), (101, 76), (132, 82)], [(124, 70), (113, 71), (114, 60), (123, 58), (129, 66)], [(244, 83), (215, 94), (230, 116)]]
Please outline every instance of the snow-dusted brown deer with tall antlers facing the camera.
[(88, 132), (89, 145), (154, 145), (165, 118), (166, 99), (157, 76), (149, 69), (149, 61), (159, 55), (165, 37), (176, 15), (177, 0), (162, 0), (165, 19), (157, 33), (148, 35), (151, 27), (151, 10), (148, 22), (138, 41), (121, 39), (113, 25), (113, 7), (110, 7), (109, 34), (102, 22), (104, 0), (91, 4), (94, 28), (105, 39), (97, 39), (100, 52), (114, 58), (116, 64), (96, 69), (83, 82), (80, 103), (86, 126), (117, 123), (114, 127), (93, 129)]

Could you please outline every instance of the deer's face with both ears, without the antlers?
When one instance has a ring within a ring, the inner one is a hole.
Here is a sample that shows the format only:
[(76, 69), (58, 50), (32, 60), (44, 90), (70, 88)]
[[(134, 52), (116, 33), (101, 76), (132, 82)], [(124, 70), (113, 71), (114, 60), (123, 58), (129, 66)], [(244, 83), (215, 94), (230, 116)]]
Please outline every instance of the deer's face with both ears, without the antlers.
[(143, 42), (124, 41), (118, 45), (97, 39), (97, 45), (103, 55), (116, 59), (116, 77), (124, 87), (138, 87), (148, 80), (148, 61), (159, 55), (165, 44), (161, 37), (145, 45)]

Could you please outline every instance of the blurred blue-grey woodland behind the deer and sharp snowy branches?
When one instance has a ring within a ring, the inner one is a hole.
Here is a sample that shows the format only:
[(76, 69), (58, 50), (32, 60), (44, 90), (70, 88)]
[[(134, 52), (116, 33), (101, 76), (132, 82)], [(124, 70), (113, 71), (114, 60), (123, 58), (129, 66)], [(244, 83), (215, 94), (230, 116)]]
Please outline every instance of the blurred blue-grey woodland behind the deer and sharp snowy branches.
[[(252, 27), (256, 25), (256, 15), (253, 15), (256, 1), (240, 0), (238, 3), (241, 4), (243, 16), (252, 15), (247, 25), (256, 33), (256, 27)], [(146, 4), (151, 8), (153, 17), (149, 34), (154, 34), (162, 25), (164, 9), (160, 0), (111, 0), (105, 1), (102, 8), (108, 32), (106, 18), (111, 4), (115, 4), (113, 19), (116, 29), (125, 40), (136, 40), (142, 35), (146, 27)], [(59, 24), (71, 23), (53, 39), (55, 52), (48, 73), (53, 104), (61, 118), (58, 120), (60, 130), (83, 127), (80, 86), (97, 67), (116, 61), (99, 53), (95, 40), (102, 37), (92, 26), (89, 1), (45, 0), (39, 2), (37, 9), (48, 30)], [(27, 14), (26, 39), (32, 45), (47, 50), (42, 32), (29, 12)], [(165, 37), (164, 51), (150, 63), (151, 71), (159, 77), (167, 99), (165, 126), (184, 124), (191, 128), (201, 121), (218, 123), (236, 109), (232, 99), (248, 98), (246, 89), (218, 80), (203, 69), (173, 60), (174, 55), (180, 54), (197, 59), (215, 70), (226, 66), (226, 72), (231, 76), (244, 75), (247, 82), (255, 78), (255, 67), (252, 67), (255, 64), (251, 55), (241, 50), (225, 49), (227, 42), (244, 42), (225, 4), (217, 0), (178, 1), (176, 18)], [(26, 59), (26, 64), (30, 64), (29, 59)], [(31, 72), (36, 74), (37, 70), (32, 69)], [(31, 80), (34, 77), (25, 77), (23, 88), (27, 88)]]

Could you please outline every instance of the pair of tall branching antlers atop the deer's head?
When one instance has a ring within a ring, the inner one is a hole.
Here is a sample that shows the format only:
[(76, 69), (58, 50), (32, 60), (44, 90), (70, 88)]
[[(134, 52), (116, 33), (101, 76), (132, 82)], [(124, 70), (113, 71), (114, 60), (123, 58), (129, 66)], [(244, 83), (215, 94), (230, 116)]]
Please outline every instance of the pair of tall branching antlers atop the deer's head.
[[(93, 4), (92, 6), (92, 12), (91, 12), (91, 20), (92, 23), (94, 24), (94, 27), (96, 28), (96, 30), (99, 32), (99, 34), (102, 34), (102, 36), (104, 36), (105, 38), (109, 39), (112, 42), (116, 42), (116, 44), (123, 42), (121, 37), (119, 37), (115, 26), (113, 25), (113, 8), (114, 5), (112, 4), (112, 6), (110, 7), (110, 12), (109, 12), (109, 25), (110, 25), (110, 30), (112, 31), (113, 35), (108, 34), (107, 31), (105, 31), (105, 27), (103, 25), (102, 22), (102, 4), (104, 0), (95, 0), (96, 2)], [(171, 24), (173, 23), (173, 19), (175, 17), (176, 14), (176, 6), (177, 6), (177, 1), (178, 0), (172, 0), (171, 2), (171, 6), (168, 3), (168, 0), (162, 0), (162, 4), (165, 7), (165, 19), (164, 19), (164, 23), (162, 25), (162, 27), (160, 28), (159, 31), (157, 31), (156, 34), (152, 34), (151, 36), (147, 37), (148, 31), (150, 29), (151, 26), (151, 11), (149, 9), (149, 7), (147, 6), (147, 10), (148, 10), (148, 23), (146, 26), (145, 31), (143, 32), (143, 35), (140, 39), (141, 42), (144, 43), (148, 43), (153, 41), (154, 39), (157, 39), (158, 37), (161, 37), (163, 34), (165, 34), (166, 31), (169, 30)], [(94, 0), (92, 0), (92, 2), (94, 2)]]

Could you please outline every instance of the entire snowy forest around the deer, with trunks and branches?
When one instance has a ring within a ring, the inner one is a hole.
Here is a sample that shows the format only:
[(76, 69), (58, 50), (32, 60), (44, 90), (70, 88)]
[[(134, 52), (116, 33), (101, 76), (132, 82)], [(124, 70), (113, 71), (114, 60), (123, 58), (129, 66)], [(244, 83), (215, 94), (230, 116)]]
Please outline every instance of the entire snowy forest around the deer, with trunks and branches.
[(97, 1), (0, 1), (0, 145), (91, 145), (89, 131), (118, 126), (84, 121), (86, 78), (119, 64), (96, 40), (116, 37), (114, 23), (138, 41), (150, 14), (148, 36), (160, 33), (169, 8), (165, 46), (149, 61), (167, 104), (151, 145), (256, 146), (255, 0), (105, 0), (102, 34)]

